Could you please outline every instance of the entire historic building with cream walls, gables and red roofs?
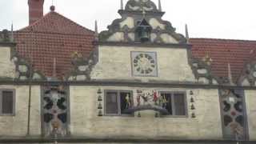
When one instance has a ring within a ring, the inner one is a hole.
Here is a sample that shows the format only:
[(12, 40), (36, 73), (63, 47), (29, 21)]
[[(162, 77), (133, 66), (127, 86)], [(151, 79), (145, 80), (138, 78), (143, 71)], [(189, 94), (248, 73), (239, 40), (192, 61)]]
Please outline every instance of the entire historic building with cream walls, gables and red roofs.
[(256, 141), (255, 41), (178, 34), (160, 1), (100, 33), (29, 6), (1, 33), (0, 142)]

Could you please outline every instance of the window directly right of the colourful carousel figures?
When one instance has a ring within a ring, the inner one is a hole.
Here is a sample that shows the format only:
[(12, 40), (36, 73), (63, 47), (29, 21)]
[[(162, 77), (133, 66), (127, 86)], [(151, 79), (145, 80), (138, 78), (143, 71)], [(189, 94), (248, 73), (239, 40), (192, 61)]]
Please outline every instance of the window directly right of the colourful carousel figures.
[(161, 92), (162, 107), (166, 108), (169, 115), (186, 116), (186, 94), (174, 92)]

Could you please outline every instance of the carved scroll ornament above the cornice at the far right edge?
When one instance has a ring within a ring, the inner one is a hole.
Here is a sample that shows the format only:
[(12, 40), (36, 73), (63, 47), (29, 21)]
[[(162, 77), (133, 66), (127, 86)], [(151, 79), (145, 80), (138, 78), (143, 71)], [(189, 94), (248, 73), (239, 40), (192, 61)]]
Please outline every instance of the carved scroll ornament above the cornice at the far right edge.
[(256, 86), (256, 61), (246, 64), (238, 83), (242, 86)]

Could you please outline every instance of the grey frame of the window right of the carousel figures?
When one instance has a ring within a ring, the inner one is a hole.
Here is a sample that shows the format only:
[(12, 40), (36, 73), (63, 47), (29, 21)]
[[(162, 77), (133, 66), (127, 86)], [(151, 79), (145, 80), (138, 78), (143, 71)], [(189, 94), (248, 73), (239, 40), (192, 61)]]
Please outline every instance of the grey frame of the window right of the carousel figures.
[[(170, 97), (171, 97), (171, 107), (172, 107), (173, 114), (163, 115), (164, 117), (167, 117), (167, 118), (189, 118), (186, 91), (165, 91), (165, 90), (162, 90), (162, 91), (158, 91), (158, 94), (160, 96), (161, 96), (161, 94), (170, 94)], [(176, 115), (175, 114), (176, 109), (175, 109), (175, 105), (174, 105), (174, 94), (184, 94), (185, 115)]]

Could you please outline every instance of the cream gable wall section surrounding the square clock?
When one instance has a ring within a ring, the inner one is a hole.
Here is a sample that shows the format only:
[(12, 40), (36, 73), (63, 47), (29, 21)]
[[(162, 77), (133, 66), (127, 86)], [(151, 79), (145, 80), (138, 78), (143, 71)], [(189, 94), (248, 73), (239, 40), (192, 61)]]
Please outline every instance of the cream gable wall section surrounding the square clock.
[[(158, 77), (134, 77), (132, 75), (131, 51), (155, 52)], [(195, 82), (184, 48), (149, 48), (132, 46), (99, 46), (98, 63), (91, 73), (92, 79), (139, 79)]]

